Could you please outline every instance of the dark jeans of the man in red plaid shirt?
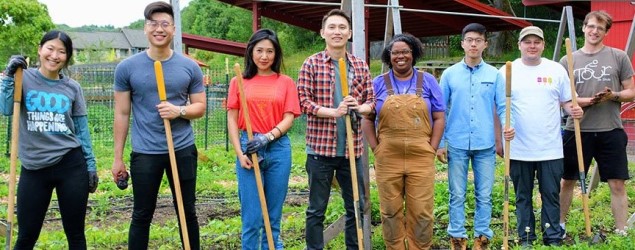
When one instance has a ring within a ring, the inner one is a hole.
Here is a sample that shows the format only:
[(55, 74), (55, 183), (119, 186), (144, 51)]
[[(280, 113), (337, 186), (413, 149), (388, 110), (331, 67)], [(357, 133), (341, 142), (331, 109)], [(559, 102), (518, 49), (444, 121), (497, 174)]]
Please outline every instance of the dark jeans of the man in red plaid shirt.
[[(359, 211), (364, 207), (364, 179), (360, 158), (355, 161), (357, 170), (357, 186), (359, 189)], [(344, 239), (346, 249), (358, 249), (357, 228), (355, 223), (355, 207), (353, 204), (353, 185), (351, 180), (350, 161), (345, 157), (325, 157), (307, 155), (306, 170), (309, 174), (309, 206), (306, 209), (306, 247), (308, 250), (324, 249), (324, 219), (326, 207), (331, 195), (333, 176), (341, 188), (344, 208), (346, 209), (346, 226)], [(362, 223), (361, 219), (359, 221)]]

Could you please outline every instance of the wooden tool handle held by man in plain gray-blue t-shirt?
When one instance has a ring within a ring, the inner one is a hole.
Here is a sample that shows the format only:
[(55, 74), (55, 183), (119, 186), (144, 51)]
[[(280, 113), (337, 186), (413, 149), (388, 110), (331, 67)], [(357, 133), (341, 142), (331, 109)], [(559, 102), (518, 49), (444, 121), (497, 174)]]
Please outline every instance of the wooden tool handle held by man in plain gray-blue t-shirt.
[[(167, 101), (165, 94), (165, 81), (163, 80), (163, 67), (160, 61), (154, 61), (154, 74), (157, 79), (157, 89), (161, 102)], [(179, 181), (179, 170), (176, 167), (176, 155), (174, 153), (174, 142), (172, 141), (172, 127), (169, 119), (163, 119), (165, 126), (165, 138), (168, 141), (168, 154), (170, 156), (170, 167), (172, 169), (172, 180), (174, 184), (174, 196), (176, 196), (176, 207), (179, 211), (179, 222), (181, 223), (181, 234), (183, 235), (183, 248), (190, 249), (190, 238), (187, 234), (187, 223), (185, 221), (185, 209), (183, 208), (183, 196), (181, 195), (181, 182)]]

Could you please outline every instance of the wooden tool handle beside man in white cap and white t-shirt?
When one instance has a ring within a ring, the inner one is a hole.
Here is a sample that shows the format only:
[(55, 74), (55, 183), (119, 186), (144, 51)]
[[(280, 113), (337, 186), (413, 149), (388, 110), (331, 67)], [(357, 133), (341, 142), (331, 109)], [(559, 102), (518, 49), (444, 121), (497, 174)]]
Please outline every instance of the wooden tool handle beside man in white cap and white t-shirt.
[[(505, 130), (509, 129), (512, 109), (512, 63), (505, 63)], [(496, 135), (500, 136), (500, 135)], [(509, 249), (509, 150), (510, 141), (505, 140), (505, 201), (503, 202), (503, 249)]]

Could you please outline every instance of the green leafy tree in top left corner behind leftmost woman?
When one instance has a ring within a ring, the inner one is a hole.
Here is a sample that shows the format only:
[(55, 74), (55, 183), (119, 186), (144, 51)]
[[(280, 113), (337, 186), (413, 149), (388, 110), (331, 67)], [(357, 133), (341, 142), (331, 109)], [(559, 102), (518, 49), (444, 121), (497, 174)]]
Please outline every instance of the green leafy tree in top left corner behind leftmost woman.
[(22, 54), (33, 62), (42, 34), (53, 28), (48, 8), (37, 0), (0, 0), (0, 61)]

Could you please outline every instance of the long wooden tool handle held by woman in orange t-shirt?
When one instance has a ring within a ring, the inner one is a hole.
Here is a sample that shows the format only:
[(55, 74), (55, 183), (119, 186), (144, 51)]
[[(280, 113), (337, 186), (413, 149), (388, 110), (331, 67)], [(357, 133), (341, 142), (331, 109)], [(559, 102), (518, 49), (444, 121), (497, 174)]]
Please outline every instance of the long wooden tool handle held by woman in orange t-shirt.
[[(251, 140), (254, 134), (251, 130), (251, 120), (249, 118), (249, 108), (247, 107), (247, 99), (245, 97), (245, 89), (243, 88), (243, 74), (240, 71), (240, 64), (234, 64), (234, 72), (236, 72), (236, 83), (240, 94), (240, 109), (243, 111), (245, 119), (245, 127), (247, 127), (247, 138)], [(273, 246), (273, 235), (271, 234), (271, 223), (269, 222), (269, 212), (267, 211), (267, 200), (265, 199), (265, 191), (262, 187), (262, 177), (260, 176), (260, 164), (258, 163), (258, 155), (251, 154), (251, 162), (254, 164), (254, 176), (256, 177), (256, 187), (258, 188), (258, 197), (260, 198), (260, 210), (262, 211), (262, 219), (265, 224), (265, 232), (267, 233), (267, 243), (269, 249), (275, 249)]]

